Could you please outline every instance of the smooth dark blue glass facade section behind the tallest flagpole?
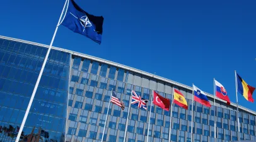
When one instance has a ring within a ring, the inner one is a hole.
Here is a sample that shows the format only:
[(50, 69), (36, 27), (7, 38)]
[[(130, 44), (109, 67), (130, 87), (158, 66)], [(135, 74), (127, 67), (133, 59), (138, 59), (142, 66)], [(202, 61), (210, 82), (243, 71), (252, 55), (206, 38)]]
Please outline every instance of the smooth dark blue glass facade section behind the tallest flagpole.
[[(0, 38), (0, 140), (15, 140), (46, 53), (41, 46)], [(70, 59), (70, 53), (50, 52), (23, 129), (25, 136), (35, 127), (34, 133), (40, 128), (46, 132), (41, 134), (44, 139), (64, 141)]]

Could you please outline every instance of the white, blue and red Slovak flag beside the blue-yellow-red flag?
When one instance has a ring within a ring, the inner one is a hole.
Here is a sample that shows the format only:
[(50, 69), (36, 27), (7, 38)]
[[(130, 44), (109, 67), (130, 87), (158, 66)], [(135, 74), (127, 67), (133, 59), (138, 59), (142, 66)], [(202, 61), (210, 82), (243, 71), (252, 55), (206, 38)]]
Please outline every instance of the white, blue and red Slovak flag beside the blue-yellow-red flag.
[(228, 97), (228, 93), (226, 92), (226, 89), (221, 85), (218, 81), (215, 80), (215, 92), (216, 97), (219, 99), (223, 99), (226, 101), (228, 105), (230, 105), (230, 98)]

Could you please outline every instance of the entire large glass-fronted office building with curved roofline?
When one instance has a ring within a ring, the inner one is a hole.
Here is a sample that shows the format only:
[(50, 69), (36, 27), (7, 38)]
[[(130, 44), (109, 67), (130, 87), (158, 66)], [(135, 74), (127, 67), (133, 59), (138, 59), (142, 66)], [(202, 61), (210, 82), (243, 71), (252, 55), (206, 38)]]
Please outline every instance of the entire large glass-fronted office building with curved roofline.
[[(0, 36), (0, 141), (15, 141), (46, 52), (47, 45)], [(211, 108), (197, 102), (192, 106), (192, 87), (62, 48), (50, 52), (21, 138), (101, 141), (113, 89), (125, 109), (110, 104), (104, 141), (124, 141), (131, 90), (149, 102), (148, 110), (131, 106), (125, 141), (146, 141), (151, 92), (171, 99), (173, 87), (185, 96), (189, 109), (173, 107), (172, 141), (192, 141), (192, 107), (194, 141), (214, 141), (214, 119), (216, 141), (256, 140), (254, 111), (240, 106), (237, 113), (236, 104), (227, 106), (219, 99)], [(213, 104), (213, 96), (207, 96)], [(170, 111), (152, 105), (149, 123), (149, 141), (168, 141)]]

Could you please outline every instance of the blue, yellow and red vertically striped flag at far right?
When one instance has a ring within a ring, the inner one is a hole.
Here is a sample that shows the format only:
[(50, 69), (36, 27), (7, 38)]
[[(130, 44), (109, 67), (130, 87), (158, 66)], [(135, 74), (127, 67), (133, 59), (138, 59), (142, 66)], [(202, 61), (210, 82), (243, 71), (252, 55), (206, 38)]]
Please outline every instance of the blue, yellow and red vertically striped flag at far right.
[(255, 87), (248, 85), (238, 74), (236, 74), (237, 91), (247, 99), (247, 101), (253, 102), (252, 94)]

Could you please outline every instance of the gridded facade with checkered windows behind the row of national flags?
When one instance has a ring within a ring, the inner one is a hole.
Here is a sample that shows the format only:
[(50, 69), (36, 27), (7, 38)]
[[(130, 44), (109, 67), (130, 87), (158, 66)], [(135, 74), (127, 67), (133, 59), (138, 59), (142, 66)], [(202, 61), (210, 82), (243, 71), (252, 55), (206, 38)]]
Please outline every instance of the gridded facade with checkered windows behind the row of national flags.
[[(111, 90), (117, 92), (125, 103), (124, 111), (110, 104), (110, 113), (105, 130), (105, 141), (124, 141), (131, 90), (151, 100), (152, 89), (167, 98), (172, 98), (173, 84), (128, 72), (105, 63), (95, 62), (73, 55), (69, 88), (69, 120), (66, 141), (101, 141)], [(192, 91), (174, 85), (187, 98), (189, 110), (173, 107), (172, 141), (191, 141)], [(211, 104), (213, 99), (209, 98)], [(149, 121), (148, 110), (131, 106), (126, 141), (146, 141)], [(255, 139), (255, 116), (240, 112), (241, 139)], [(216, 101), (211, 108), (194, 103), (193, 131), (195, 141), (214, 141), (214, 118), (218, 141), (238, 139), (236, 108)], [(151, 107), (149, 141), (168, 141), (170, 112), (160, 107)]]

